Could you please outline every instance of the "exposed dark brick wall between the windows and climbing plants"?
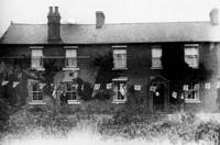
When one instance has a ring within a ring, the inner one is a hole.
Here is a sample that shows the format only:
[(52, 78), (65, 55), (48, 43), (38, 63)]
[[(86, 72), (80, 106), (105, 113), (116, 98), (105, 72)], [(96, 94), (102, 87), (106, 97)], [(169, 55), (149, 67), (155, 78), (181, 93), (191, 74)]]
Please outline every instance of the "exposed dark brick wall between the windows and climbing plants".
[[(161, 45), (162, 48), (169, 48), (174, 46), (174, 48), (184, 53), (184, 44), (185, 43), (162, 43), (162, 44), (123, 44), (127, 45), (127, 54), (128, 54), (128, 69), (127, 70), (112, 70), (118, 71), (118, 75), (121, 77), (128, 77), (128, 85), (132, 87), (133, 85), (141, 85), (141, 90), (132, 93), (136, 98), (141, 98), (146, 105), (146, 110), (148, 109), (148, 83), (150, 77), (161, 75), (163, 76), (163, 69), (151, 69), (151, 46)], [(204, 80), (200, 81), (200, 99), (201, 103), (186, 103), (185, 110), (194, 110), (194, 111), (215, 111), (217, 110), (217, 89), (215, 88), (215, 83), (217, 83), (217, 79), (220, 77), (220, 48), (217, 43), (199, 43), (200, 45), (200, 54), (199, 60), (206, 70), (208, 70), (210, 75), (205, 75)], [(2, 48), (1, 48), (2, 49)], [(165, 51), (164, 49), (164, 51)], [(112, 53), (112, 45), (102, 44), (102, 45), (78, 45), (77, 56), (78, 56), (78, 77), (81, 78), (85, 82), (94, 83), (96, 82), (99, 67), (94, 64), (94, 60), (100, 56), (109, 55)], [(182, 54), (180, 53), (180, 54)], [(4, 46), (1, 51), (0, 56), (26, 56), (30, 59), (31, 52), (29, 46)], [(64, 66), (64, 59), (59, 58), (59, 56), (65, 56), (65, 51), (63, 45), (50, 45), (44, 47), (44, 56), (53, 56), (53, 58), (46, 58), (46, 62), (55, 62), (56, 66), (59, 68), (57, 72), (63, 72), (62, 68)], [(183, 56), (183, 54), (182, 54)], [(179, 58), (184, 58), (184, 57)], [(16, 60), (13, 59), (3, 59), (9, 62), (11, 65)], [(30, 62), (25, 62), (26, 66), (30, 66)], [(24, 64), (25, 64), (24, 63)], [(59, 71), (61, 70), (61, 71)], [(175, 71), (175, 68), (174, 68)], [(64, 77), (61, 75), (61, 77)], [(62, 79), (61, 79), (62, 80)], [(205, 89), (205, 83), (211, 82), (210, 89)], [(169, 82), (172, 83), (172, 82)], [(23, 89), (23, 88), (21, 88)], [(172, 92), (172, 90), (170, 90)], [(172, 97), (170, 97), (172, 98)], [(79, 104), (80, 105), (80, 104)], [(118, 104), (120, 105), (120, 104)]]

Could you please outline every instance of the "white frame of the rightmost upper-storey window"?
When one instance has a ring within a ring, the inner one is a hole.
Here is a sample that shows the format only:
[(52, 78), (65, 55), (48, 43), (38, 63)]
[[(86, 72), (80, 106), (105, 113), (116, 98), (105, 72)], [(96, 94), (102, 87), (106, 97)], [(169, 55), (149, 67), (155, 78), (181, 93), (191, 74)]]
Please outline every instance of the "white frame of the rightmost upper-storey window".
[[(186, 49), (196, 49), (197, 55), (190, 55), (190, 54), (186, 54)], [(188, 56), (188, 57), (187, 57)], [(190, 66), (191, 63), (187, 63), (187, 58), (190, 58), (193, 56), (193, 58), (197, 59), (197, 64), (196, 66)], [(196, 56), (196, 57), (195, 57)], [(199, 44), (185, 44), (184, 45), (184, 62), (188, 65), (188, 67), (194, 68), (194, 69), (198, 69), (199, 68)]]

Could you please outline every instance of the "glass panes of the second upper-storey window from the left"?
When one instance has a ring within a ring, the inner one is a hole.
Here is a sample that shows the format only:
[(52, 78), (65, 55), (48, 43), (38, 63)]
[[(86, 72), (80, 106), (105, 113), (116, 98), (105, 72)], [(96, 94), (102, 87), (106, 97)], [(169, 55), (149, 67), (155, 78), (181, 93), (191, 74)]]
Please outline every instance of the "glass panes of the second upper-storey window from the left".
[(66, 49), (66, 67), (77, 67), (76, 49)]

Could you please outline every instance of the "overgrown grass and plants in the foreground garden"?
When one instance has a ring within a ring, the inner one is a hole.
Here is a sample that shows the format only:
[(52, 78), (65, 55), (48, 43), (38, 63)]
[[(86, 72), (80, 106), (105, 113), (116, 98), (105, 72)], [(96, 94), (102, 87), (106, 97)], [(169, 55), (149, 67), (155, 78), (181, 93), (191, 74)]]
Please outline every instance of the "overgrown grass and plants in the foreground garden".
[(1, 132), (2, 145), (219, 145), (219, 138), (220, 123), (213, 120), (202, 121), (190, 113), (139, 114), (124, 110), (114, 114), (69, 115), (40, 108), (23, 109), (10, 116)]

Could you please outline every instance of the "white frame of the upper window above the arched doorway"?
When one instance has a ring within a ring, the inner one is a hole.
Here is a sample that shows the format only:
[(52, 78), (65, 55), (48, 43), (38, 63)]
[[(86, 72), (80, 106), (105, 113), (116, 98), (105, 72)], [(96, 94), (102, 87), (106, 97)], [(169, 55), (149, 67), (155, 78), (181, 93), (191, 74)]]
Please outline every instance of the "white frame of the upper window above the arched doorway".
[[(161, 54), (160, 56), (154, 56), (154, 51), (160, 51)], [(163, 65), (162, 65), (162, 56), (163, 56), (163, 48), (161, 45), (155, 45), (155, 46), (151, 46), (151, 69), (163, 69)], [(160, 62), (160, 65), (158, 66), (155, 66), (154, 62), (155, 60), (158, 60)]]

